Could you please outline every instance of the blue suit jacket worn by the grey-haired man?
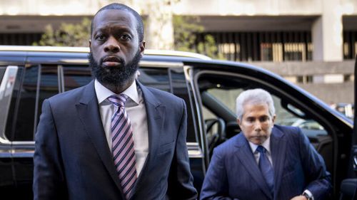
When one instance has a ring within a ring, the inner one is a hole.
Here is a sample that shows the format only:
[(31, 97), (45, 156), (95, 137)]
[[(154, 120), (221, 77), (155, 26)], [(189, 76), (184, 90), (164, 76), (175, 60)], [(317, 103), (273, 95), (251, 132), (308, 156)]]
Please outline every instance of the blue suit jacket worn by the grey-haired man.
[(271, 133), (274, 195), (258, 168), (243, 133), (216, 147), (203, 181), (201, 199), (291, 199), (311, 191), (324, 199), (331, 190), (322, 157), (297, 127), (274, 125)]

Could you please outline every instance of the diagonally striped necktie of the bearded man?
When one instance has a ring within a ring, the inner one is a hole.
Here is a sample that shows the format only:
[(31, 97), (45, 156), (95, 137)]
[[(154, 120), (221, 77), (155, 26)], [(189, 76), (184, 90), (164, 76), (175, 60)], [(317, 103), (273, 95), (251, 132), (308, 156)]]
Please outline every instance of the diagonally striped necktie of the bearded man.
[(121, 94), (111, 95), (108, 100), (116, 107), (111, 117), (111, 140), (114, 164), (126, 199), (136, 181), (136, 160), (134, 152), (133, 130), (129, 116), (125, 110), (125, 102), (129, 97)]

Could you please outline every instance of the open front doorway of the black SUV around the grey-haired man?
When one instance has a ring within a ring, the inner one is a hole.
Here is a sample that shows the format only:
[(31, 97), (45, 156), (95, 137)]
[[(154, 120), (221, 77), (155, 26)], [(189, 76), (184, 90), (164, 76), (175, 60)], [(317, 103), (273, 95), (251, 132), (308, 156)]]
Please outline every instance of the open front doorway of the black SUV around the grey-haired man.
[[(308, 137), (313, 147), (321, 154), (326, 168), (333, 170), (333, 135), (327, 124), (328, 120), (318, 110), (316, 105), (307, 99), (296, 98), (294, 94), (286, 93), (289, 90), (285, 83), (267, 83), (256, 78), (256, 75), (241, 75), (238, 73), (204, 70), (196, 73), (196, 80), (203, 107), (213, 113), (209, 117), (216, 117), (217, 129), (206, 130), (206, 144), (208, 154), (212, 154), (214, 147), (229, 138), (237, 135), (241, 130), (236, 122), (236, 98), (244, 90), (263, 88), (271, 93), (276, 107), (276, 125), (300, 127), (301, 132)], [(278, 81), (277, 81), (278, 82)], [(282, 89), (281, 87), (284, 87)], [(291, 88), (293, 90), (293, 88)], [(206, 119), (206, 116), (203, 116)], [(209, 118), (208, 117), (208, 118)], [(206, 127), (212, 121), (206, 120)], [(219, 128), (221, 126), (221, 128)], [(223, 127), (223, 128), (222, 128)]]

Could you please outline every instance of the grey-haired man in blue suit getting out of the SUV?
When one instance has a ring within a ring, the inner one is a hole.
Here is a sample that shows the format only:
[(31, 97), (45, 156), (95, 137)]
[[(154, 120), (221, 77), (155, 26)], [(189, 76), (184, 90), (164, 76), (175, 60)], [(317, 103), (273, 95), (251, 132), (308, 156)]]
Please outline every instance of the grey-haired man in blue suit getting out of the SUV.
[(273, 125), (275, 108), (262, 89), (236, 100), (241, 133), (214, 149), (200, 198), (318, 200), (331, 191), (325, 162), (298, 127)]

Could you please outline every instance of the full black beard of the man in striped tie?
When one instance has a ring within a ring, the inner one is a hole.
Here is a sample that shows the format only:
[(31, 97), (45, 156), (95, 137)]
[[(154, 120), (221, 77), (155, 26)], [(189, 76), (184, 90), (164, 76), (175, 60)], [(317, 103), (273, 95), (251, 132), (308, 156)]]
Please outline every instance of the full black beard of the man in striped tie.
[(136, 70), (139, 68), (139, 61), (141, 59), (140, 50), (138, 50), (129, 63), (125, 63), (123, 59), (121, 60), (121, 65), (119, 67), (106, 67), (103, 66), (103, 59), (99, 60), (99, 63), (94, 60), (93, 54), (89, 53), (89, 66), (92, 68), (92, 73), (94, 73), (96, 79), (99, 83), (104, 85), (121, 85), (126, 83), (129, 79), (133, 78)]

